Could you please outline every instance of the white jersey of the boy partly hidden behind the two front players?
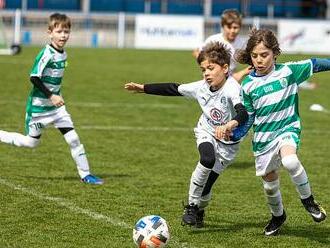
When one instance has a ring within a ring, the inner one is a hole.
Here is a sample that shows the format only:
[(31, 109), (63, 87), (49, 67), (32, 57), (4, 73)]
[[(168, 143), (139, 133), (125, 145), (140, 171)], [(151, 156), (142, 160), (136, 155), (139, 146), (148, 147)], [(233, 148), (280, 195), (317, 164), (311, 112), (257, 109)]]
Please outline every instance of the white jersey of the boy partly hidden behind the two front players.
[(243, 49), (245, 47), (245, 40), (242, 39), (241, 37), (237, 36), (233, 42), (228, 42), (223, 37), (222, 33), (214, 34), (214, 35), (209, 36), (204, 41), (204, 44), (200, 47), (200, 50), (202, 50), (203, 47), (205, 47), (210, 42), (219, 42), (221, 44), (224, 44), (226, 46), (226, 48), (229, 49), (230, 54), (231, 54), (229, 73), (230, 74), (233, 73), (237, 67), (237, 61), (234, 58), (235, 52), (236, 52), (236, 50)]

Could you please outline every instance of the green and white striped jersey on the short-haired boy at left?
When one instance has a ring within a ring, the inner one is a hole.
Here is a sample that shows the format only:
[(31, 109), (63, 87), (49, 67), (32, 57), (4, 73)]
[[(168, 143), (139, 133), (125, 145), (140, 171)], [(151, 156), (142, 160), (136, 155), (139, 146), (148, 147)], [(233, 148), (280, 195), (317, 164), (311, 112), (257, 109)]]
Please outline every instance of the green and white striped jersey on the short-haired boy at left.
[[(37, 55), (30, 76), (39, 77), (44, 85), (56, 95), (61, 94), (61, 83), (67, 55), (46, 45)], [(33, 86), (26, 106), (28, 116), (43, 116), (55, 113), (58, 107), (35, 86)]]

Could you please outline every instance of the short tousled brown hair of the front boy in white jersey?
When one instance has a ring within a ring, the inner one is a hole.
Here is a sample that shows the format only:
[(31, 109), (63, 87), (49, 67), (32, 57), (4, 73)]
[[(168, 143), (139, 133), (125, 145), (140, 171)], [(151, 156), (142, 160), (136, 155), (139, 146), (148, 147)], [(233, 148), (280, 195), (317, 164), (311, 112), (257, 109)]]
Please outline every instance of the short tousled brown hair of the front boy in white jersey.
[(219, 42), (208, 43), (197, 57), (197, 63), (200, 65), (203, 61), (208, 60), (211, 63), (224, 66), (230, 64), (230, 51)]

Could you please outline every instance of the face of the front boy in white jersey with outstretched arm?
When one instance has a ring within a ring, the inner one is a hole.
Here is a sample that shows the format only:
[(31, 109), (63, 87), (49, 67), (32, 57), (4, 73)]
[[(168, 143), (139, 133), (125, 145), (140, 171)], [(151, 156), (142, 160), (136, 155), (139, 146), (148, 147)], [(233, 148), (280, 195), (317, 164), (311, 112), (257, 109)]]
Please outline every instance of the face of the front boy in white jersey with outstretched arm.
[(202, 69), (203, 78), (214, 90), (220, 89), (226, 82), (229, 66), (227, 64), (220, 66), (208, 60), (204, 60), (200, 67)]

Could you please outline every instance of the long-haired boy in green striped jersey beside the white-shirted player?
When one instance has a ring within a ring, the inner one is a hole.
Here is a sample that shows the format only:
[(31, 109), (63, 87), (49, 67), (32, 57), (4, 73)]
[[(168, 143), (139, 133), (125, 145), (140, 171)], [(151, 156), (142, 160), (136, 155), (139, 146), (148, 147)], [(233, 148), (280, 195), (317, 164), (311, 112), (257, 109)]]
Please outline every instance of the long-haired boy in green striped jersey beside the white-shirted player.
[[(281, 50), (275, 34), (267, 29), (253, 29), (237, 61), (254, 67), (242, 82), (243, 103), (254, 116), (253, 152), (256, 175), (262, 177), (264, 192), (272, 214), (265, 235), (276, 235), (286, 220), (280, 192), (280, 165), (289, 172), (301, 202), (316, 222), (326, 218), (325, 210), (312, 195), (307, 173), (297, 149), (301, 121), (298, 112), (299, 84), (313, 72), (330, 70), (329, 59), (309, 59), (276, 63)], [(219, 127), (219, 139), (228, 139), (231, 127)]]

